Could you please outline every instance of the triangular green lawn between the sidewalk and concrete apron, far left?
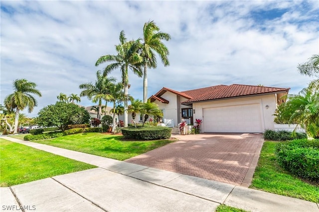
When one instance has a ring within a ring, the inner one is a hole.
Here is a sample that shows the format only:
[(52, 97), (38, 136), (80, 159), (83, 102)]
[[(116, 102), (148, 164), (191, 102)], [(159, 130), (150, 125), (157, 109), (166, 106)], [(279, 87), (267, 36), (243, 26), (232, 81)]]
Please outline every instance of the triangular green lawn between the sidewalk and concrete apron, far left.
[(96, 167), (4, 139), (0, 154), (0, 187)]

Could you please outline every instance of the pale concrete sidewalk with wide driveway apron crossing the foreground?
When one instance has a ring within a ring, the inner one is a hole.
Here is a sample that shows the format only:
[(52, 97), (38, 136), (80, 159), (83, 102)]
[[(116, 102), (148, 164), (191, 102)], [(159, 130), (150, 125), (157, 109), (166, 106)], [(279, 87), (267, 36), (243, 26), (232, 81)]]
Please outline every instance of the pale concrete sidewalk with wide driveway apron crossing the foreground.
[(18, 211), (21, 206), (24, 211), (46, 212), (184, 212), (214, 211), (218, 205), (225, 204), (252, 212), (319, 212), (319, 206), (308, 201), (49, 145), (1, 138), (99, 167), (2, 187), (1, 211)]

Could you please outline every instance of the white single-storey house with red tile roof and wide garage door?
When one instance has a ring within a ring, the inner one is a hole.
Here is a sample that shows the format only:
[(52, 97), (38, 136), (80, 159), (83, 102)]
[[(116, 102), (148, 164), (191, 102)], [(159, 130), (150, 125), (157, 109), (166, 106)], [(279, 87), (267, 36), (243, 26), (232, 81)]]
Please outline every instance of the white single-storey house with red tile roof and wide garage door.
[(289, 89), (232, 84), (179, 92), (163, 87), (149, 99), (174, 126), (182, 119), (190, 124), (202, 119), (201, 132), (262, 133), (274, 129), (273, 114)]

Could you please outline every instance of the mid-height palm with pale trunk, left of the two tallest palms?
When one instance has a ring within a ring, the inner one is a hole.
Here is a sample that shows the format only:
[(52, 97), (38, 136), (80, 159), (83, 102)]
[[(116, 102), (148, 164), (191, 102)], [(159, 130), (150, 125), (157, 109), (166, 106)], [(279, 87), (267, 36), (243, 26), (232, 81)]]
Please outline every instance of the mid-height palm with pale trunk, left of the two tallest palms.
[(106, 75), (102, 75), (101, 71), (96, 72), (96, 78), (97, 79), (94, 84), (92, 82), (80, 84), (80, 89), (84, 89), (81, 91), (80, 96), (87, 96), (93, 103), (98, 102), (98, 119), (101, 120), (102, 100), (111, 100), (109, 86), (116, 80), (112, 76), (107, 77)]

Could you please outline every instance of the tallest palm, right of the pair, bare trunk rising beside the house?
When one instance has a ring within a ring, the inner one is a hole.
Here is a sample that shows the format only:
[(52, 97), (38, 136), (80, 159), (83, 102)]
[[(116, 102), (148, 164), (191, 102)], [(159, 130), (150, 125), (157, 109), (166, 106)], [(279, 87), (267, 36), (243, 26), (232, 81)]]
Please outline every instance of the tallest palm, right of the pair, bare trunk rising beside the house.
[[(170, 35), (164, 32), (160, 32), (160, 28), (156, 25), (154, 21), (149, 21), (144, 24), (143, 27), (143, 42), (140, 46), (142, 52), (144, 65), (144, 79), (143, 79), (143, 102), (147, 103), (148, 99), (148, 68), (157, 68), (157, 61), (155, 53), (158, 53), (161, 62), (164, 66), (169, 66), (168, 61), (168, 49), (162, 43), (162, 40), (168, 41)], [(137, 42), (140, 42), (138, 40)]]

